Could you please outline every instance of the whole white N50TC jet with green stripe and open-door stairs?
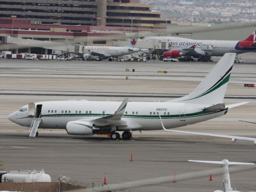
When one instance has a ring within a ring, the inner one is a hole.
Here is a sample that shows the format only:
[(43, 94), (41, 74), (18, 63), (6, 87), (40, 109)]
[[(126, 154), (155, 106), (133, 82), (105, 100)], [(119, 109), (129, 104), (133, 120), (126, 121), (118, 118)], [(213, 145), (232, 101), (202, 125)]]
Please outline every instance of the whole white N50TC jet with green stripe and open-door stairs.
[[(223, 103), (236, 54), (226, 53), (189, 95), (167, 102), (66, 100), (29, 103), (8, 119), (30, 129), (66, 129), (71, 135), (111, 134), (130, 139), (132, 131), (186, 126), (222, 116), (229, 108), (248, 102)], [(162, 122), (162, 124), (161, 124)]]

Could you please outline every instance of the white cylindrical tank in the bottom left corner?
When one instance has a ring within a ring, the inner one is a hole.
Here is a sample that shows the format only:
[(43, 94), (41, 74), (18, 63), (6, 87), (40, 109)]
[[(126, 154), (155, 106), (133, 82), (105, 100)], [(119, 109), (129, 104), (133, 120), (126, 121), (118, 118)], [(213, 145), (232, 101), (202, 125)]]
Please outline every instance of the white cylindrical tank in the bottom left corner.
[(3, 182), (8, 182), (8, 183), (51, 182), (51, 177), (50, 175), (45, 174), (44, 170), (42, 171), (8, 170), (6, 174), (2, 175), (1, 181), (2, 183)]

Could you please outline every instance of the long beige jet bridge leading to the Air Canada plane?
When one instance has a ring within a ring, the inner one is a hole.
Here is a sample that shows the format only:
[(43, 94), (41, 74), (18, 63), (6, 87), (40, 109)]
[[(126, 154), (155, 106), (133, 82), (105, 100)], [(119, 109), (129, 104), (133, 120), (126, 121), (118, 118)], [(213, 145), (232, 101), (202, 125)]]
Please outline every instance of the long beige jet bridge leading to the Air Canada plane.
[(60, 42), (40, 41), (32, 39), (22, 39), (7, 36), (6, 43), (17, 44), (25, 47), (40, 47), (45, 49), (59, 50), (63, 52), (71, 53), (83, 53), (83, 45), (80, 44), (69, 44)]

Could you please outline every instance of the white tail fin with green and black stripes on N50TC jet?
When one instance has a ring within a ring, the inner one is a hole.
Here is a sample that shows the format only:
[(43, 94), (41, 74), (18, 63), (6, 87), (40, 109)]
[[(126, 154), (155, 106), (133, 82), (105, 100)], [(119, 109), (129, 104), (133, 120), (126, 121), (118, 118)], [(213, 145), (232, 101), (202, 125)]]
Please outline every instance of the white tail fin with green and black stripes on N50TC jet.
[(235, 57), (235, 53), (224, 54), (192, 93), (168, 102), (209, 105), (223, 103)]

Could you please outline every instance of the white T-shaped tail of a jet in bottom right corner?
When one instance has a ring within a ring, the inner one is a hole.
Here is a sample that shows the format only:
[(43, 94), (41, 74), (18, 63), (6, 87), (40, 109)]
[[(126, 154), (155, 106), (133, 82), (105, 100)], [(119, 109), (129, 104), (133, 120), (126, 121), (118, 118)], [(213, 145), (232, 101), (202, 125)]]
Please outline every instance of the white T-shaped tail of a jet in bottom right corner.
[[(240, 163), (240, 162), (229, 162), (224, 159), (222, 161), (198, 161), (198, 160), (188, 160), (189, 162), (198, 162), (198, 163), (211, 163), (211, 164), (220, 164), (224, 168), (223, 173), (223, 182), (224, 182), (224, 192), (239, 192), (237, 190), (233, 190), (230, 184), (230, 177), (228, 172), (228, 165), (254, 165), (254, 163)], [(221, 190), (216, 190), (214, 192), (223, 192)]]

